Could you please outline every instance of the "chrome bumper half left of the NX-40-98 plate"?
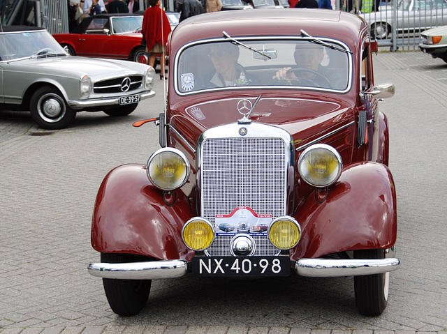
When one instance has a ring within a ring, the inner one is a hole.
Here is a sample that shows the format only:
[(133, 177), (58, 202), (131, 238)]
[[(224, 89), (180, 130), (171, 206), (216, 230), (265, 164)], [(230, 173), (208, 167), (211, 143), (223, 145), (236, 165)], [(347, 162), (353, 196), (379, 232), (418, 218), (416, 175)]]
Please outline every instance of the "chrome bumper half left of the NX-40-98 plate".
[(186, 260), (130, 262), (122, 264), (89, 264), (87, 271), (99, 278), (119, 280), (158, 280), (160, 278), (179, 278), (186, 275)]

